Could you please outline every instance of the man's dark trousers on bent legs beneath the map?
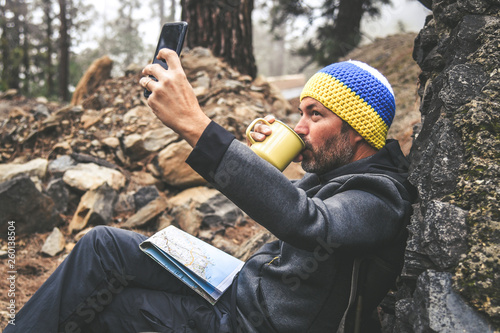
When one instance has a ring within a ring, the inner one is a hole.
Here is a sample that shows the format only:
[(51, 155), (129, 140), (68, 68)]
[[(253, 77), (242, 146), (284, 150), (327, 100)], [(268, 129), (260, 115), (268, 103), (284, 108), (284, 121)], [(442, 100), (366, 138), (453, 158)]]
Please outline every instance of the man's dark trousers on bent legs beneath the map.
[(144, 254), (144, 239), (95, 227), (4, 332), (229, 332), (231, 291), (212, 306)]

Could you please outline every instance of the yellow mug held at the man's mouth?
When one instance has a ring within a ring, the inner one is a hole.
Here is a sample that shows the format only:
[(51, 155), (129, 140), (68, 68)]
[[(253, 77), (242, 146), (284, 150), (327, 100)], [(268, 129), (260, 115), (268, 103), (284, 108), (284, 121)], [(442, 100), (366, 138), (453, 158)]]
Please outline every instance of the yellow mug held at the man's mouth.
[[(271, 127), (272, 133), (264, 141), (255, 141), (250, 132), (259, 123), (265, 123)], [(285, 123), (275, 120), (270, 124), (264, 118), (255, 119), (247, 128), (246, 136), (252, 143), (250, 147), (257, 155), (274, 165), (280, 171), (293, 161), (293, 159), (305, 148), (304, 141), (293, 129)]]

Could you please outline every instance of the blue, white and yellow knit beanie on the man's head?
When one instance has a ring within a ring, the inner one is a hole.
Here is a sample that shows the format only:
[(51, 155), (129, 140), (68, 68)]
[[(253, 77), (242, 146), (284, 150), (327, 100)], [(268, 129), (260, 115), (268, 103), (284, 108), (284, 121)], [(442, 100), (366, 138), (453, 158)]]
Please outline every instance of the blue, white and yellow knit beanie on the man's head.
[(375, 68), (356, 60), (326, 66), (307, 81), (300, 100), (304, 97), (323, 104), (376, 149), (385, 145), (396, 102), (391, 85)]

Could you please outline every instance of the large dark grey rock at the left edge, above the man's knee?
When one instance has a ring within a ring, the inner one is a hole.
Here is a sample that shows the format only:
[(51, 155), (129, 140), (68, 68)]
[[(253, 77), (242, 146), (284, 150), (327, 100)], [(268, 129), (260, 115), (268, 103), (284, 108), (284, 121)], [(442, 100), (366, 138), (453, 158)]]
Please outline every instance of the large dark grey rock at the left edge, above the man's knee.
[(16, 235), (46, 232), (62, 223), (52, 199), (26, 176), (0, 183), (1, 232), (7, 232), (9, 221), (15, 223)]

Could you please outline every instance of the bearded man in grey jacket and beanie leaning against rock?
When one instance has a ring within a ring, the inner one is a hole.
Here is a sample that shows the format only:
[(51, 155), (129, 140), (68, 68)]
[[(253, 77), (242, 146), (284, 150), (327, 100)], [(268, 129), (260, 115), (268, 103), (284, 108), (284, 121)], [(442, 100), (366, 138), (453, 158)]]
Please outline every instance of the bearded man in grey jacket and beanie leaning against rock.
[[(308, 81), (295, 127), (306, 143), (297, 161), (308, 173), (292, 183), (203, 113), (175, 52), (161, 50), (159, 58), (169, 70), (148, 65), (140, 84), (152, 92), (158, 118), (193, 146), (187, 163), (279, 241), (252, 256), (211, 306), (141, 253), (144, 236), (96, 227), (5, 332), (348, 328), (359, 259), (400, 268), (414, 199), (406, 159), (397, 142), (385, 140), (395, 111), (387, 80), (366, 64), (344, 62)], [(252, 135), (261, 141), (269, 134), (261, 125)], [(368, 312), (394, 282), (397, 272), (389, 271), (369, 279), (380, 295)]]

